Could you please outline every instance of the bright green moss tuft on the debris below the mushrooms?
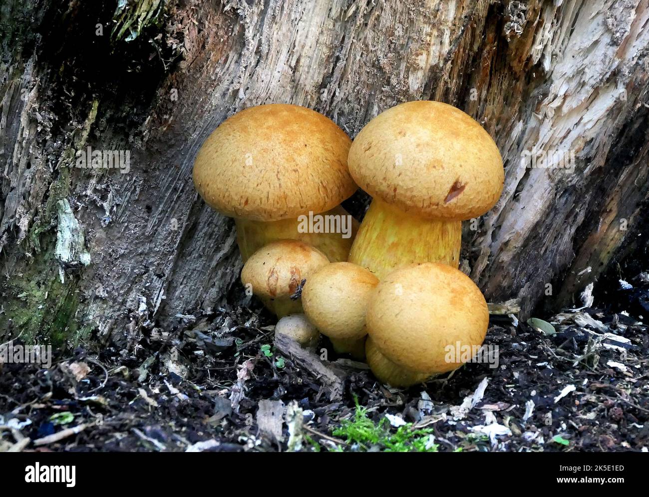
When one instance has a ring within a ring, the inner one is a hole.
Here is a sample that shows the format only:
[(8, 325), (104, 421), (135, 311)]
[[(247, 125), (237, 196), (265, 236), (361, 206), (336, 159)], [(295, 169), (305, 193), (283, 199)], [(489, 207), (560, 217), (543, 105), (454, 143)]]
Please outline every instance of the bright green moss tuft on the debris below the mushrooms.
[[(408, 423), (396, 430), (390, 426), (387, 418), (374, 423), (367, 417), (367, 409), (358, 405), (352, 420), (343, 420), (340, 427), (334, 429), (334, 437), (339, 437), (365, 452), (378, 448), (381, 452), (437, 452), (437, 444), (431, 444), (433, 429), (413, 429)], [(340, 451), (337, 447), (332, 451)]]

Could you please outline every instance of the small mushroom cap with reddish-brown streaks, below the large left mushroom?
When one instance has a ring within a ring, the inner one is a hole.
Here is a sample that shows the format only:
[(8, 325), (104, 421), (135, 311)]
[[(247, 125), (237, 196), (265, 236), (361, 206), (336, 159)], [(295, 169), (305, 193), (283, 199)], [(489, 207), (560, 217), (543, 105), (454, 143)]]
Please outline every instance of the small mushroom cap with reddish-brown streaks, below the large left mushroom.
[(241, 283), (261, 298), (288, 298), (317, 268), (329, 264), (321, 251), (297, 240), (277, 240), (253, 253), (241, 271)]

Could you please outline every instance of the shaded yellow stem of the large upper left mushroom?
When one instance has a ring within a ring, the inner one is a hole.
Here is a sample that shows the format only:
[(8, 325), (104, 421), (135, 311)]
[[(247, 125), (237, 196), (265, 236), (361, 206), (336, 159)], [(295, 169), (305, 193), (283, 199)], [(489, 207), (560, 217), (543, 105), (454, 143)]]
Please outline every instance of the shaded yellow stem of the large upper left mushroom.
[[(291, 218), (269, 222), (236, 218), (237, 242), (243, 262), (245, 263), (257, 249), (276, 240), (300, 240), (324, 253), (330, 262), (347, 261), (349, 250), (358, 231), (358, 221), (341, 206), (313, 216), (312, 226), (309, 225), (308, 214), (305, 214), (305, 218), (306, 220)], [(303, 229), (305, 221), (306, 231)], [(343, 238), (343, 235), (347, 236), (341, 233), (343, 229), (347, 231), (349, 238)], [(337, 231), (337, 233), (316, 233), (316, 231)]]

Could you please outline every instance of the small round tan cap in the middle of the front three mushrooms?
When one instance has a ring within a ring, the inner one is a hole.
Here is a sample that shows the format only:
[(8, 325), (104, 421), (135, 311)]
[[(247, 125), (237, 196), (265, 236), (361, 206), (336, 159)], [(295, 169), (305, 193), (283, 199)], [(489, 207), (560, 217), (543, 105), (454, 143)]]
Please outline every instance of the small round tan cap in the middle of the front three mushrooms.
[(357, 340), (367, 334), (365, 312), (378, 278), (351, 262), (319, 268), (302, 290), (304, 314), (323, 335)]

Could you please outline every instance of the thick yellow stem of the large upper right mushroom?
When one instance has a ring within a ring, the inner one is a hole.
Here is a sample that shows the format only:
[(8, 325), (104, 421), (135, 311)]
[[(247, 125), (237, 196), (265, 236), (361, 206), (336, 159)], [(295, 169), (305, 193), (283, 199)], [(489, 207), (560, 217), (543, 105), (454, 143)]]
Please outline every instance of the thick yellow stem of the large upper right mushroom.
[(374, 198), (349, 254), (349, 262), (378, 279), (413, 262), (459, 266), (462, 222), (428, 220)]

